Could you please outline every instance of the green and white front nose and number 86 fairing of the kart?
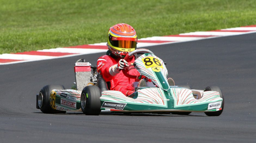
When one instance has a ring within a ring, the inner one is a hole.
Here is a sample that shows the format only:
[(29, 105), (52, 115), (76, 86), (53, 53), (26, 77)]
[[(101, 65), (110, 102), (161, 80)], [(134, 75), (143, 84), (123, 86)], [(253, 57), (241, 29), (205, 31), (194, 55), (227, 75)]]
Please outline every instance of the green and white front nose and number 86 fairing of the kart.
[[(145, 60), (146, 59), (146, 60)], [(146, 62), (148, 63), (146, 63)], [(101, 110), (115, 112), (211, 112), (221, 110), (222, 98), (216, 91), (190, 90), (169, 86), (164, 62), (153, 54), (143, 54), (135, 60), (135, 68), (156, 86), (138, 89), (133, 97), (120, 91), (103, 91)], [(200, 99), (195, 99), (193, 92)]]

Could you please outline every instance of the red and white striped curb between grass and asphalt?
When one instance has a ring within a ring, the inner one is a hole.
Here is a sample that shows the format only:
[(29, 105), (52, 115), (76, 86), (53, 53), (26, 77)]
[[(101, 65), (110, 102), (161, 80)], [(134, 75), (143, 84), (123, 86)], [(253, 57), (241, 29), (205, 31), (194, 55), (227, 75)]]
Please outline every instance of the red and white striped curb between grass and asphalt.
[[(153, 37), (138, 39), (137, 47), (141, 48), (141, 47), (147, 47), (147, 46), (195, 41), (195, 40), (201, 40), (201, 39), (248, 34), (248, 33), (254, 33), (254, 32), (256, 32), (256, 25), (227, 28), (227, 29), (213, 30), (213, 31), (189, 32), (189, 33), (182, 33), (179, 35), (153, 36)], [(100, 53), (100, 52), (106, 52), (106, 51), (107, 51), (107, 46), (106, 46), (106, 42), (104, 42), (104, 43), (96, 43), (96, 44), (88, 44), (88, 45), (70, 46), (70, 47), (64, 47), (64, 48), (43, 49), (38, 51), (21, 52), (16, 54), (2, 54), (0, 55), (0, 65), (29, 62), (29, 61), (39, 61), (44, 59), (63, 58), (68, 56), (93, 54), (93, 53)]]

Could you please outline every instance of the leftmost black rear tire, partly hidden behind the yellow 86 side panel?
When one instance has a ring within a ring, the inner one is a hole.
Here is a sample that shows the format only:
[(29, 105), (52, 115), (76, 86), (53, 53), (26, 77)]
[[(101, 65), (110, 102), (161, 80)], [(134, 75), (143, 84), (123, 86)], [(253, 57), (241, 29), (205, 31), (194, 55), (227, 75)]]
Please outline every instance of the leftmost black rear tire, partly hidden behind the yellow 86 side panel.
[[(39, 99), (42, 98), (42, 104), (40, 104), (41, 107), (40, 110), (43, 112), (43, 113), (46, 113), (46, 114), (54, 114), (54, 113), (62, 113), (62, 114), (65, 114), (66, 111), (59, 111), (59, 110), (54, 110), (51, 108), (51, 105), (50, 105), (50, 94), (51, 94), (51, 91), (53, 89), (65, 89), (63, 85), (46, 85), (44, 86), (40, 92), (39, 92)], [(39, 102), (39, 101), (37, 101)]]

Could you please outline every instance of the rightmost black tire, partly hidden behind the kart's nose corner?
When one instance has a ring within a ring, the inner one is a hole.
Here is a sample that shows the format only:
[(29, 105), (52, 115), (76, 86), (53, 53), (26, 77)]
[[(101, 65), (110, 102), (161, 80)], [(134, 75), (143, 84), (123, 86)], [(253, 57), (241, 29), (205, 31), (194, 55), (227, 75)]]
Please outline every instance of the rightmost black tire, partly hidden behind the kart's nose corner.
[(223, 99), (222, 105), (221, 105), (222, 109), (214, 112), (204, 112), (207, 116), (220, 116), (220, 114), (223, 112), (223, 109), (224, 109), (224, 95), (222, 90), (217, 86), (209, 86), (209, 87), (206, 87), (204, 91), (217, 91), (220, 93), (220, 98)]

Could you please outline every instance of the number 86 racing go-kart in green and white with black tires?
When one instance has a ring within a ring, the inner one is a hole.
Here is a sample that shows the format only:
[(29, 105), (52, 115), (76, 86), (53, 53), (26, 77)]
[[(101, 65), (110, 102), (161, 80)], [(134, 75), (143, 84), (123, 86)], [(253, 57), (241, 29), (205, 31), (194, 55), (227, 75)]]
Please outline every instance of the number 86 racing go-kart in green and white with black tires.
[[(221, 115), (224, 95), (219, 87), (208, 86), (204, 90), (190, 86), (169, 86), (165, 63), (148, 49), (136, 49), (124, 59), (135, 62), (122, 70), (129, 78), (144, 77), (146, 87), (137, 87), (126, 97), (120, 91), (109, 90), (96, 66), (78, 60), (75, 63), (75, 81), (71, 89), (61, 85), (46, 85), (36, 95), (36, 108), (43, 113), (82, 111), (86, 115), (99, 115), (102, 111), (119, 113), (172, 113), (188, 115), (205, 112), (208, 116)], [(91, 73), (92, 69), (92, 73)], [(129, 70), (138, 70), (140, 75), (130, 75)]]

